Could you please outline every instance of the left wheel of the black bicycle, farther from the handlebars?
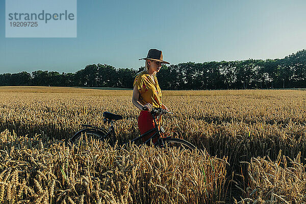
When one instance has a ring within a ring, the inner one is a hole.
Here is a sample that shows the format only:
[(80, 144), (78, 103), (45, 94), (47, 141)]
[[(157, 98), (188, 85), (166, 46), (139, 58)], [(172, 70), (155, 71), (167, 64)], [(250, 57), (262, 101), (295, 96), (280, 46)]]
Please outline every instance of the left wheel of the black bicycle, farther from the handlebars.
[(107, 132), (106, 130), (92, 130), (92, 129), (84, 129), (77, 134), (75, 134), (69, 141), (74, 145), (83, 146), (86, 142), (91, 139), (96, 140), (104, 140), (106, 138)]

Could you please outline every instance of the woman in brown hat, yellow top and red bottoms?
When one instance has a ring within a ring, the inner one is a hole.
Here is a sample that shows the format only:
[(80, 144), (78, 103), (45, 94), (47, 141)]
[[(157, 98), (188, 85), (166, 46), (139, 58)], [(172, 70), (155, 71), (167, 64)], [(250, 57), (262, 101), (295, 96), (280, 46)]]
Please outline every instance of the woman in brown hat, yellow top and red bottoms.
[[(139, 60), (145, 60), (145, 68), (135, 78), (132, 103), (141, 110), (138, 117), (138, 127), (142, 135), (154, 128), (154, 121), (150, 113), (153, 108), (163, 108), (168, 111), (168, 108), (162, 104), (162, 92), (156, 73), (159, 72), (162, 64), (170, 63), (163, 61), (162, 51), (158, 49), (150, 49), (147, 57)], [(143, 107), (146, 107), (148, 111), (143, 111)], [(151, 135), (143, 137), (142, 141), (147, 141)], [(153, 138), (152, 143), (156, 142), (157, 138)]]

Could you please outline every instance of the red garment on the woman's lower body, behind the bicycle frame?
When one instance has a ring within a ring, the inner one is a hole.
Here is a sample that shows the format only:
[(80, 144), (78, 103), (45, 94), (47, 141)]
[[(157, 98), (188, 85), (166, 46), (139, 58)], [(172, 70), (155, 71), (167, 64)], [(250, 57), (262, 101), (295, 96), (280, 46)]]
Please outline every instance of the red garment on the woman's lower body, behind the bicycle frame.
[[(158, 121), (157, 121), (158, 122)], [(148, 111), (141, 111), (138, 117), (138, 128), (140, 131), (140, 135), (144, 134), (145, 132), (152, 130), (155, 127), (153, 117), (150, 112)], [(152, 132), (145, 137), (141, 138), (143, 142), (147, 141), (153, 134), (156, 132)], [(157, 142), (157, 137), (152, 138), (152, 143)]]

